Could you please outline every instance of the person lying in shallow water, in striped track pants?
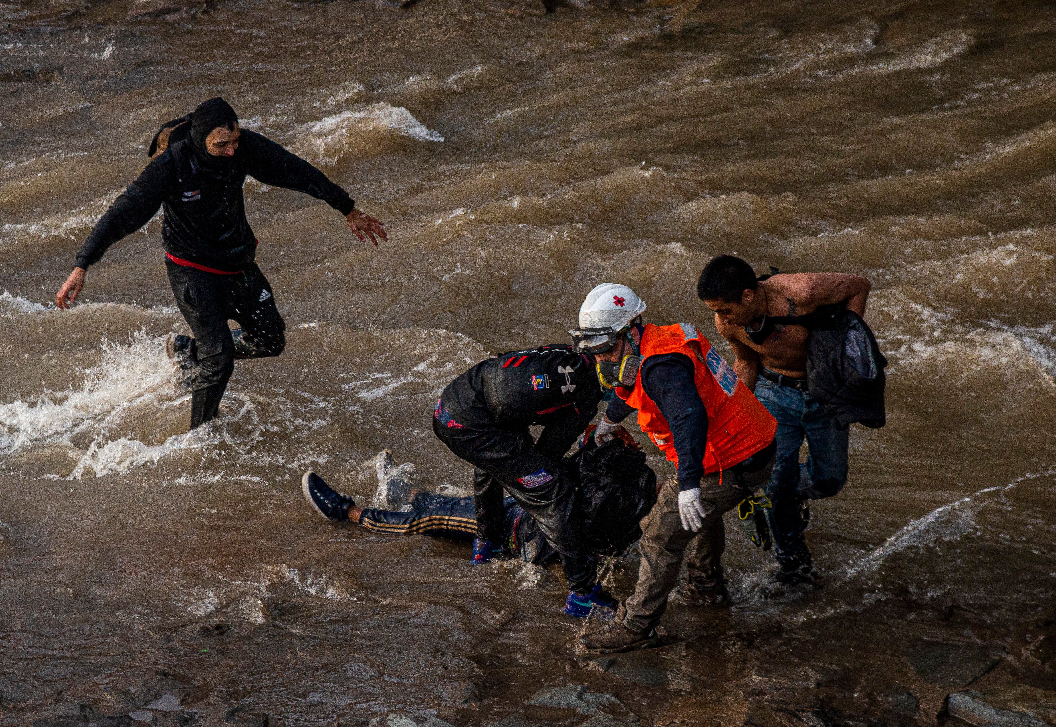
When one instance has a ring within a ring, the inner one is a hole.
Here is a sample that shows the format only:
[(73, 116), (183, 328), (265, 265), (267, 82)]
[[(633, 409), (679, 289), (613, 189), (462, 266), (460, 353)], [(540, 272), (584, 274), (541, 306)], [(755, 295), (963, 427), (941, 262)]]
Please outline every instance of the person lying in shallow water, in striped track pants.
[[(599, 446), (588, 431), (581, 448), (566, 457), (563, 464), (577, 482), (587, 550), (592, 555), (616, 555), (636, 542), (641, 535), (638, 522), (656, 502), (656, 475), (630, 435), (621, 427), (611, 441)], [(414, 465), (397, 466), (390, 449), (378, 453), (377, 474), (375, 501), (386, 509), (357, 505), (310, 470), (304, 473), (301, 490), (308, 503), (327, 520), (353, 522), (385, 535), (473, 541), (476, 512), (470, 491), (422, 487)], [(467, 496), (459, 496), (463, 492)], [(531, 515), (512, 497), (505, 498), (504, 505), (504, 555), (540, 566), (558, 562), (558, 552)]]

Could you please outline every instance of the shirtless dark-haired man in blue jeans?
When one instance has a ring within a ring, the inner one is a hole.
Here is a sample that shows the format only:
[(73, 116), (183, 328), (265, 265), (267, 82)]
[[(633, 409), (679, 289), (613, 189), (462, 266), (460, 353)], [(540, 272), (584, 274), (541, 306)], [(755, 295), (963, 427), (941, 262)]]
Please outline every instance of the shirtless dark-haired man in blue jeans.
[[(849, 427), (807, 390), (807, 337), (818, 308), (840, 305), (865, 314), (869, 281), (841, 272), (775, 273), (761, 279), (733, 255), (713, 257), (697, 294), (737, 357), (733, 370), (777, 420), (777, 455), (767, 495), (780, 570), (775, 581), (816, 585), (804, 531), (807, 502), (832, 497), (847, 482)], [(814, 315), (812, 315), (814, 314)], [(804, 437), (810, 456), (799, 463)]]

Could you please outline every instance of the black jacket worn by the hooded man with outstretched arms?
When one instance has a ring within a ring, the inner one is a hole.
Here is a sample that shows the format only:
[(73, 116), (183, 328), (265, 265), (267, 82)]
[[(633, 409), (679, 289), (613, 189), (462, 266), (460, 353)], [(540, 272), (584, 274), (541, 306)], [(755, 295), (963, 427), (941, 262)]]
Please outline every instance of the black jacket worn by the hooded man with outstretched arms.
[(352, 212), (347, 192), (261, 134), (242, 129), (234, 156), (216, 169), (204, 165), (185, 138), (151, 159), (114, 200), (77, 253), (77, 267), (96, 263), (107, 248), (146, 225), (164, 206), (166, 252), (218, 270), (243, 269), (253, 262), (257, 248), (242, 196), (247, 175), (271, 187), (310, 194), (341, 214)]

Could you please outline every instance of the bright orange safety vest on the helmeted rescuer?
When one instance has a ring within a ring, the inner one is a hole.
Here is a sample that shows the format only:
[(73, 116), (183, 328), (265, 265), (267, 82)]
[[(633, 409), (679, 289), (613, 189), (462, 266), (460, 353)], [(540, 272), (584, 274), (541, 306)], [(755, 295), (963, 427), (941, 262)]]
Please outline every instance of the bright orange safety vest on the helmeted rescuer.
[[(748, 386), (737, 378), (712, 344), (692, 323), (673, 326), (648, 324), (642, 332), (642, 366), (638, 367), (635, 387), (617, 386), (616, 395), (638, 409), (638, 425), (660, 447), (667, 459), (678, 464), (675, 437), (660, 407), (642, 386), (642, 369), (650, 356), (684, 353), (693, 362), (697, 393), (708, 410), (708, 446), (704, 473), (712, 474), (735, 464), (766, 447), (777, 432), (777, 420), (759, 403)], [(626, 396), (624, 396), (626, 393)]]

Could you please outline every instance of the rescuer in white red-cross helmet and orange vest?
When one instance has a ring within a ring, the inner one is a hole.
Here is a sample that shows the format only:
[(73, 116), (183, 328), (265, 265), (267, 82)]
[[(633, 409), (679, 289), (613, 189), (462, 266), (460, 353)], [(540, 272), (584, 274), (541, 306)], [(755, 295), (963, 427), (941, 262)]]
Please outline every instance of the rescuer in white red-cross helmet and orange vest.
[(678, 465), (642, 520), (635, 594), (601, 631), (580, 639), (602, 653), (655, 640), (694, 538), (691, 597), (729, 604), (722, 514), (742, 501), (761, 506), (753, 493), (770, 479), (776, 451), (777, 422), (708, 339), (690, 323), (644, 324), (643, 312), (645, 303), (634, 290), (603, 283), (587, 294), (580, 327), (569, 331), (573, 350), (593, 357), (598, 382), (615, 394), (596, 438), (604, 439), (637, 409), (642, 432)]

